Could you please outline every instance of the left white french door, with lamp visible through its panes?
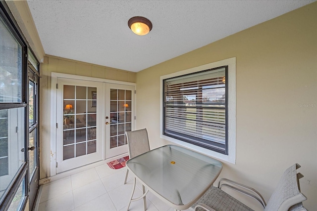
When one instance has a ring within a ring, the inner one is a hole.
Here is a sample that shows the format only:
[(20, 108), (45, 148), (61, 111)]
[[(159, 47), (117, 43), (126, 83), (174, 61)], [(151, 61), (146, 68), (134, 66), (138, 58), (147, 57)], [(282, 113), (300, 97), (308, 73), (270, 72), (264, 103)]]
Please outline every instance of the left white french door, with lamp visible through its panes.
[(57, 78), (56, 173), (104, 157), (104, 86), (101, 82)]

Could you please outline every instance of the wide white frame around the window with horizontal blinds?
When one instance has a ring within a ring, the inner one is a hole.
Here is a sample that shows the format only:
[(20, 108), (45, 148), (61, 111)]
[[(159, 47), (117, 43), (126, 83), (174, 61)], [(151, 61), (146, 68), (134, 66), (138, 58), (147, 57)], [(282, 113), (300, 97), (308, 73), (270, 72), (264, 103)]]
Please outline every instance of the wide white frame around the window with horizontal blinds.
[[(178, 77), (186, 74), (196, 73), (207, 69), (228, 66), (228, 155), (224, 155), (203, 147), (190, 144), (176, 138), (163, 135), (163, 80)], [(199, 67), (190, 68), (176, 73), (160, 77), (160, 138), (175, 144), (193, 149), (202, 154), (235, 164), (236, 163), (236, 57), (212, 62)]]

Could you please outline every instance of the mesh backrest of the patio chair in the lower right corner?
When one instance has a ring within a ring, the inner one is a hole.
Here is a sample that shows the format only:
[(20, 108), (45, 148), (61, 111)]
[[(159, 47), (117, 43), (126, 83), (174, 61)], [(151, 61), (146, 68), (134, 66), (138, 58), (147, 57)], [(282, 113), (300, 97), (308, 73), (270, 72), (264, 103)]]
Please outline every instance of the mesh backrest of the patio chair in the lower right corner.
[(288, 211), (291, 206), (307, 199), (300, 192), (299, 179), (303, 175), (296, 173), (296, 169), (300, 167), (300, 165), (294, 164), (284, 171), (264, 211)]

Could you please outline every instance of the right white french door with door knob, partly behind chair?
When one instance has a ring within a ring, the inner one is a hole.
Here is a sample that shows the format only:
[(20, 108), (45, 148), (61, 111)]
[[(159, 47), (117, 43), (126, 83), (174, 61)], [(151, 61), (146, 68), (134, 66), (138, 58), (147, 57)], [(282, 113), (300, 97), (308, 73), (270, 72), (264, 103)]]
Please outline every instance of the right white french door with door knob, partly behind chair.
[(106, 159), (128, 152), (126, 131), (134, 130), (135, 86), (106, 84)]

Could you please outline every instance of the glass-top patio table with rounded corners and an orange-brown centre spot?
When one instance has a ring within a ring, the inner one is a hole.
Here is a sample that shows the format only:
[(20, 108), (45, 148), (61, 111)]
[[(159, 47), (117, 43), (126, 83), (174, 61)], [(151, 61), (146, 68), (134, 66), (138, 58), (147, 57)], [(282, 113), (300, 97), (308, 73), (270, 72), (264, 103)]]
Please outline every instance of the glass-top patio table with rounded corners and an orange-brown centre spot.
[[(148, 190), (175, 210), (186, 210), (193, 205), (222, 169), (219, 161), (176, 145), (153, 149), (128, 160), (126, 166)], [(133, 193), (134, 189), (131, 199)], [(144, 188), (143, 193), (132, 201), (144, 198), (146, 202)], [(129, 206), (130, 203), (131, 200)]]

